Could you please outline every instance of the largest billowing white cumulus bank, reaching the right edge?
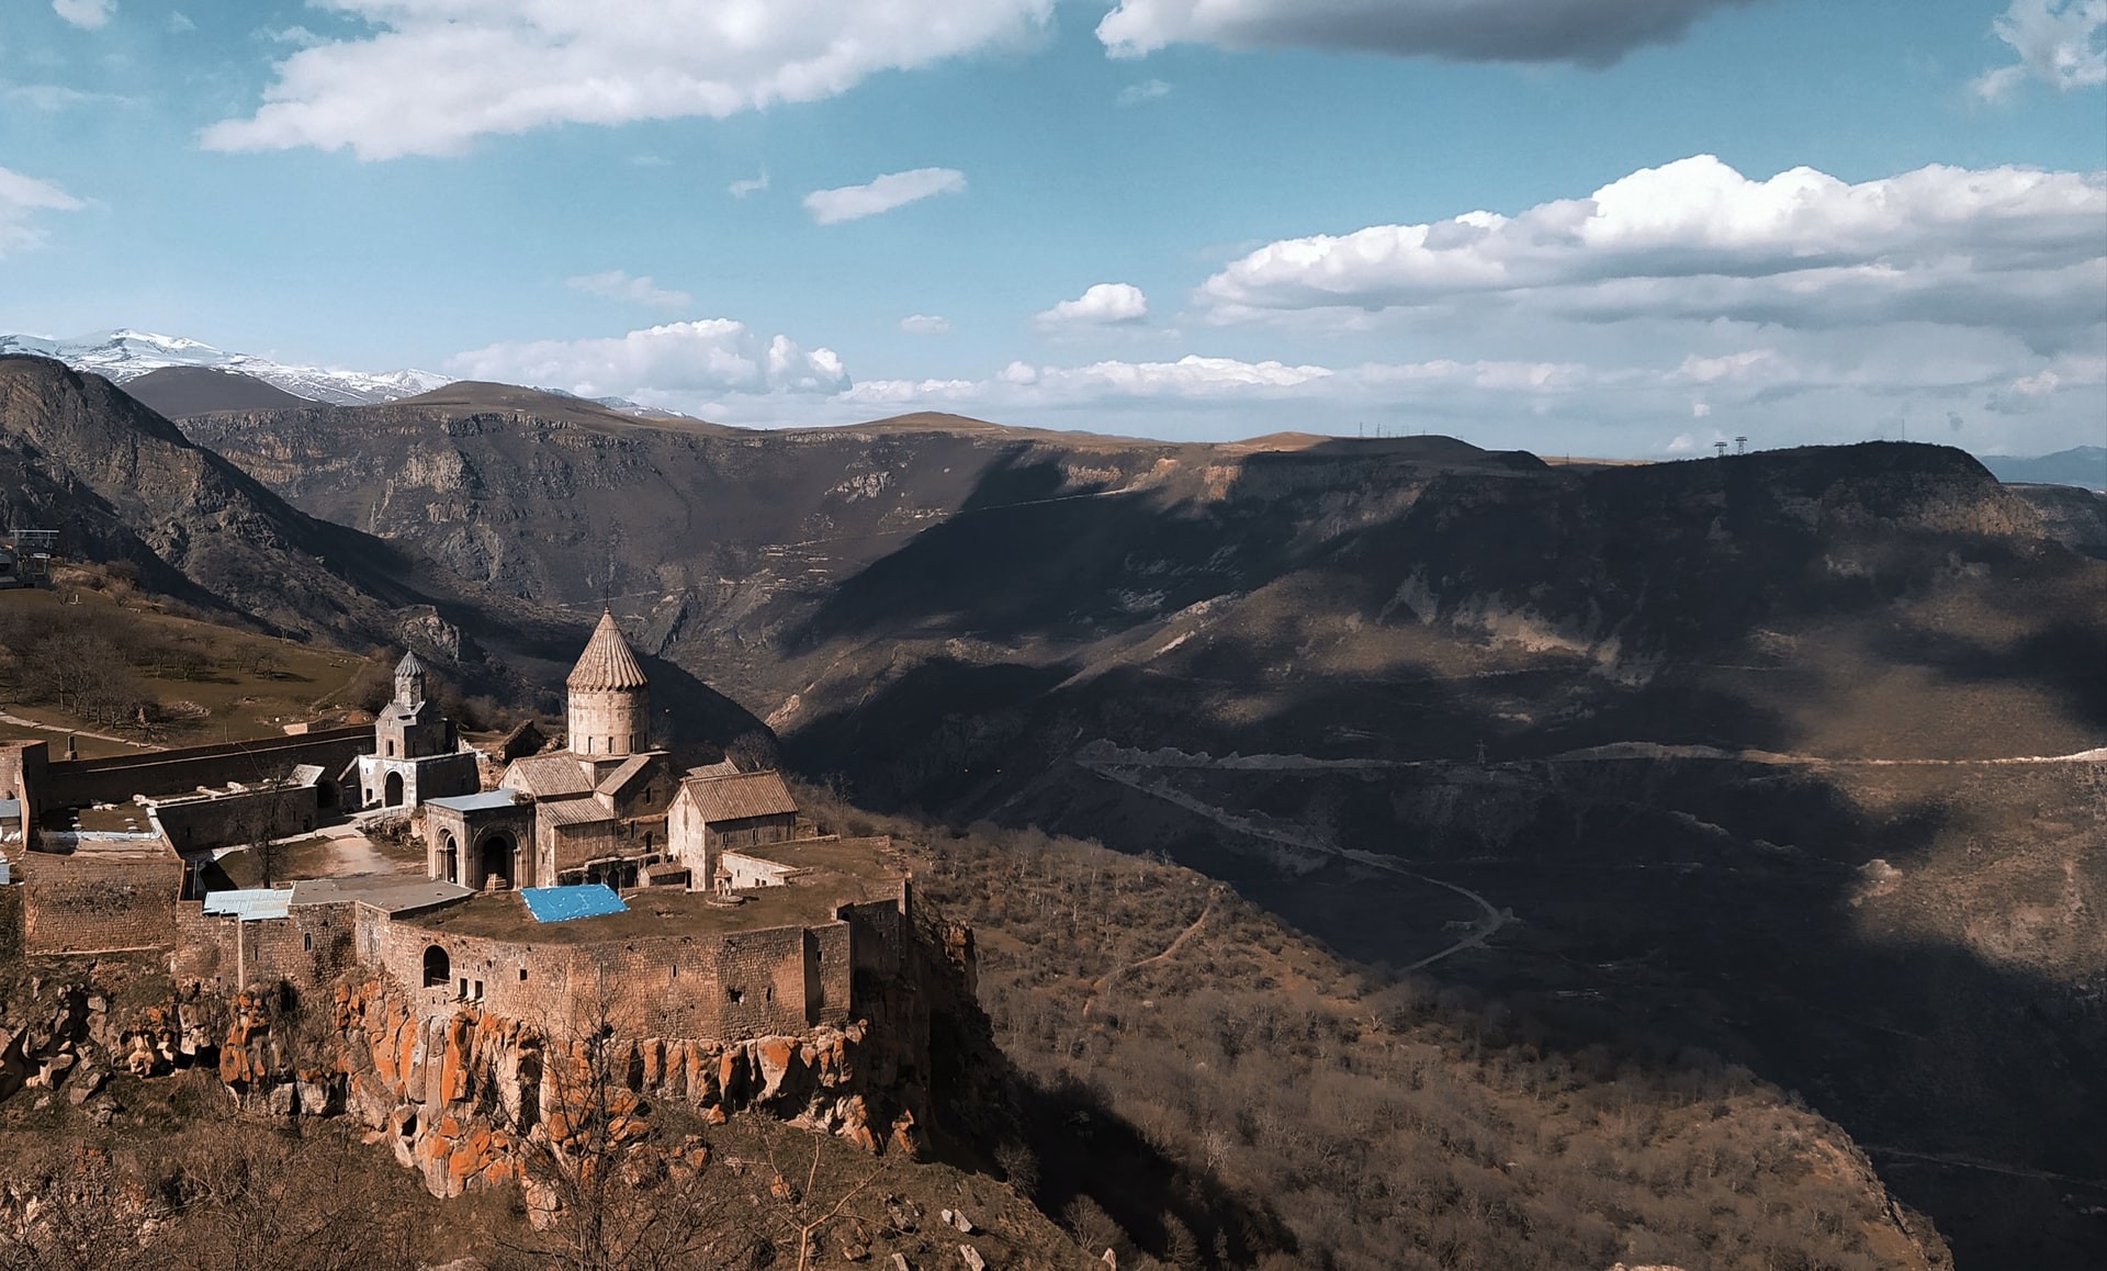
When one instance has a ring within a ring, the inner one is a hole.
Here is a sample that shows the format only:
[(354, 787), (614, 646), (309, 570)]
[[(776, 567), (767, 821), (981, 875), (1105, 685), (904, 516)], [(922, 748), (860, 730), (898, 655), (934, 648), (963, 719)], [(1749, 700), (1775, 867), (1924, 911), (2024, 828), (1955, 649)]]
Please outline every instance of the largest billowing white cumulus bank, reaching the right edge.
[(1214, 274), (1216, 320), (1519, 308), (1576, 320), (1787, 327), (1932, 320), (2042, 333), (2101, 320), (2107, 175), (1928, 167), (1846, 183), (1751, 181), (1713, 156), (1507, 217), (1271, 242)]

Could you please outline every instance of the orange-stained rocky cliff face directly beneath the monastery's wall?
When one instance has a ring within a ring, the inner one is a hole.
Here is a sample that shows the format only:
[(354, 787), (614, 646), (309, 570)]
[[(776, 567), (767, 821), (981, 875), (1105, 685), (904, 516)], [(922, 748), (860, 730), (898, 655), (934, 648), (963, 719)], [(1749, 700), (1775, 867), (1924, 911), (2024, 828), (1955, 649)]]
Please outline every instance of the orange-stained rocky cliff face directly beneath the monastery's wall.
[(697, 1166), (697, 1142), (657, 1132), (662, 1104), (710, 1121), (754, 1109), (868, 1151), (921, 1151), (917, 1092), (887, 1088), (891, 1043), (864, 1022), (740, 1041), (552, 1037), (386, 980), (337, 984), (324, 1012), (274, 1020), (263, 995), (236, 995), (221, 1079), (255, 1115), (356, 1117), (440, 1197), (518, 1182), (539, 1212), (554, 1204), (541, 1164)]

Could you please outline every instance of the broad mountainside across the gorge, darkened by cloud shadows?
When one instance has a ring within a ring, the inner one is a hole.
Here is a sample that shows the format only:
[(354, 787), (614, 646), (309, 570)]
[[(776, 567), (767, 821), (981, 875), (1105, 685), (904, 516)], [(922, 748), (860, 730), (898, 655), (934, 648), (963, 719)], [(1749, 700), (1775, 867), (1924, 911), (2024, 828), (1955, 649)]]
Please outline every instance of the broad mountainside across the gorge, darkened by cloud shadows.
[(192, 428), (518, 594), (590, 605), (615, 561), (647, 643), (864, 803), (1176, 858), (1363, 963), (1557, 1003), (1574, 1048), (1726, 1054), (1964, 1265), (2107, 1252), (2107, 1128), (2059, 1136), (2107, 1107), (2099, 763), (1995, 763), (2107, 742), (2092, 495), (1890, 443)]

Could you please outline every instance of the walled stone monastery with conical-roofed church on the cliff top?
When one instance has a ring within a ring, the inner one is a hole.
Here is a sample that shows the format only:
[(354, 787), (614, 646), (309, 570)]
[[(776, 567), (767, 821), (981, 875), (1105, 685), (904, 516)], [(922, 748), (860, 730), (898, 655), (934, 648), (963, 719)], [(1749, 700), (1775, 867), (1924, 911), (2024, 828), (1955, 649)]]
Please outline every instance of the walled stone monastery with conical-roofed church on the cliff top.
[[(531, 725), (493, 755), (464, 746), (428, 679), (405, 656), (371, 729), (120, 759), (0, 744), (0, 932), (25, 955), (166, 955), (179, 995), (343, 1001), (365, 982), (413, 1003), (411, 1029), (495, 1018), (733, 1054), (910, 1022), (912, 894), (889, 841), (820, 835), (775, 771), (676, 769), (651, 748), (649, 681), (611, 613), (569, 674), (563, 748), (533, 752)], [(299, 839), (343, 818), (407, 820), (424, 868), (356, 833)], [(270, 839), (320, 843), (327, 864), (230, 885), (215, 858)], [(952, 944), (971, 957), (969, 934)], [(181, 1062), (196, 1041), (173, 1020), (135, 1058)], [(891, 1050), (895, 1086), (914, 1086), (925, 1045)], [(710, 1090), (733, 1102), (723, 1064)]]

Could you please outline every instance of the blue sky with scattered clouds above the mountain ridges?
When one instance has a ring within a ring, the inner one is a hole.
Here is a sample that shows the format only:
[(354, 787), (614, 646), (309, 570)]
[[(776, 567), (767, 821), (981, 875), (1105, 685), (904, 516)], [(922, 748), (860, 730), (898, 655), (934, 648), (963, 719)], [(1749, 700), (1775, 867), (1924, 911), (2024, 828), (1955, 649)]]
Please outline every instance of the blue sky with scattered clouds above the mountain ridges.
[(11, 0), (0, 331), (737, 424), (2035, 453), (2107, 443), (2103, 82), (2107, 0)]

